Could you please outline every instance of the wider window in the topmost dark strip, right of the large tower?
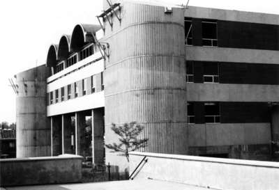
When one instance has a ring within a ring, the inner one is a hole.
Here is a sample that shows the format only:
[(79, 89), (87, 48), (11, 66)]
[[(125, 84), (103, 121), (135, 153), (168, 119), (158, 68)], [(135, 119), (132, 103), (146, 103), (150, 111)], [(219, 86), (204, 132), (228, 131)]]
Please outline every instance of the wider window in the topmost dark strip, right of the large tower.
[(217, 47), (217, 22), (203, 21), (202, 22), (202, 45)]

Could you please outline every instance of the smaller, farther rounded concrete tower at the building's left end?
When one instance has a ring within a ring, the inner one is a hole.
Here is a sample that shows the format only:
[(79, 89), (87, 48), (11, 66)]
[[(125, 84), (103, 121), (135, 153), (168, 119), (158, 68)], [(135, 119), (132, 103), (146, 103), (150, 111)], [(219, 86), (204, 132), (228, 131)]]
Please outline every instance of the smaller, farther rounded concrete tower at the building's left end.
[(41, 65), (16, 75), (17, 157), (50, 156), (46, 85), (49, 68)]

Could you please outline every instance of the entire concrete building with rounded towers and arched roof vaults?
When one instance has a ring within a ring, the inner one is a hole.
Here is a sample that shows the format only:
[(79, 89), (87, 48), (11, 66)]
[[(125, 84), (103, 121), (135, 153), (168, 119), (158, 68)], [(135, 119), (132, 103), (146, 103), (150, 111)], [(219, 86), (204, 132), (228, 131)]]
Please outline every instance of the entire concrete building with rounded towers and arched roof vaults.
[[(108, 3), (109, 2), (109, 3)], [(126, 158), (104, 144), (136, 121), (140, 151), (271, 159), (279, 138), (279, 16), (104, 1), (45, 66), (17, 74), (17, 157)], [(38, 74), (40, 72), (40, 74)]]

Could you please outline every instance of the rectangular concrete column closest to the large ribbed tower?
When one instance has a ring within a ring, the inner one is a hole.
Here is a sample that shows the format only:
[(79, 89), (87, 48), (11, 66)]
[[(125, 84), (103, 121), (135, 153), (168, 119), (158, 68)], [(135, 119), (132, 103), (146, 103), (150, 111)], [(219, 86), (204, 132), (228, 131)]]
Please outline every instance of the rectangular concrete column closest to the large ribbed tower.
[(105, 163), (104, 150), (104, 110), (92, 110), (92, 158), (93, 164), (103, 165)]

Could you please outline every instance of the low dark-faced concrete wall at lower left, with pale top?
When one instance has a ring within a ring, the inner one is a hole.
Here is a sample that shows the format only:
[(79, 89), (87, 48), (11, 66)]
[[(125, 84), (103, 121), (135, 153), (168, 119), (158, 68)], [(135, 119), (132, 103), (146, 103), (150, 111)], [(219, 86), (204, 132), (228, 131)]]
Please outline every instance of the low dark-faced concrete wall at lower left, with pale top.
[(81, 182), (82, 157), (29, 157), (0, 159), (0, 186)]

